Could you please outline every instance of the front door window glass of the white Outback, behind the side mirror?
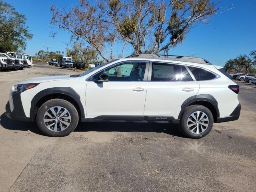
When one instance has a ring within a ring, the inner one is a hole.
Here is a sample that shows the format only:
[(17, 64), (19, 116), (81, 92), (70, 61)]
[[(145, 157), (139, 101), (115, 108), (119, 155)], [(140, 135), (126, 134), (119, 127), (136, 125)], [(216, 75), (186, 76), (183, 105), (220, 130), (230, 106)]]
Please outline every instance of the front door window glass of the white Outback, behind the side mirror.
[(110, 67), (90, 78), (98, 80), (101, 74), (107, 74), (109, 81), (143, 81), (146, 62), (127, 62)]

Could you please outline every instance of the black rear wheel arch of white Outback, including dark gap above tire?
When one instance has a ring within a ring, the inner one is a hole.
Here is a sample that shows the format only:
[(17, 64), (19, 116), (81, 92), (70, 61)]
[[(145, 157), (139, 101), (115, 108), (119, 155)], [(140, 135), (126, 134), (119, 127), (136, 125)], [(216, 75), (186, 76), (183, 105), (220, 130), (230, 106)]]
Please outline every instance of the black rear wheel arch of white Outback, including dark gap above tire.
[(185, 108), (191, 105), (202, 105), (208, 108), (212, 112), (214, 122), (216, 122), (217, 118), (220, 117), (218, 102), (212, 95), (205, 94), (205, 95), (191, 96), (190, 98), (185, 100), (184, 103), (181, 105), (181, 111), (178, 116), (178, 119), (181, 119)]

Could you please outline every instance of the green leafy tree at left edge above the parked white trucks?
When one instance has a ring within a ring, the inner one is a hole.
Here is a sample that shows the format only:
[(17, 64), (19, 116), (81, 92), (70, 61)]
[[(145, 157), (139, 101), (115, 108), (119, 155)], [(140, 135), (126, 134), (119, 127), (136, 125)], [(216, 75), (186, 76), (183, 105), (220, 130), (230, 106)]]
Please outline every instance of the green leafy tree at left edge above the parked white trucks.
[(33, 35), (25, 26), (26, 18), (10, 4), (0, 0), (0, 52), (26, 49), (26, 41)]

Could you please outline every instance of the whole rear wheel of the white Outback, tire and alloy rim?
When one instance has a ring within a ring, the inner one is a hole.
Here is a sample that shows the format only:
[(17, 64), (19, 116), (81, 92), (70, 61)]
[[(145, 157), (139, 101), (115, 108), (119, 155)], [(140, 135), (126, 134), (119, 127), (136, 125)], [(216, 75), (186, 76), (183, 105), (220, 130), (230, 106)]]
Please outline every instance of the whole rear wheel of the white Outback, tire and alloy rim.
[(180, 129), (188, 138), (202, 138), (212, 130), (212, 126), (212, 113), (205, 106), (188, 106), (182, 114)]

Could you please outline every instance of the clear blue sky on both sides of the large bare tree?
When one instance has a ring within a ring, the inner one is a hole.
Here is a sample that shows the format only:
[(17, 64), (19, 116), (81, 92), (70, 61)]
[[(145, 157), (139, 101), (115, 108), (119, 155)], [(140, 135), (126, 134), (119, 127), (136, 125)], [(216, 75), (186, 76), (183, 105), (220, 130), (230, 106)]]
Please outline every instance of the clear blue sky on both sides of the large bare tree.
[[(55, 38), (50, 36), (52, 4), (57, 7), (69, 7), (78, 4), (78, 0), (4, 0), (24, 14), (27, 26), (34, 37), (27, 42), (26, 53), (35, 55), (44, 46), (51, 47), (49, 51), (65, 51), (70, 34), (59, 31)], [(235, 58), (239, 54), (249, 54), (256, 49), (256, 1), (255, 0), (221, 0), (219, 6), (228, 7), (233, 4), (233, 9), (223, 14), (215, 14), (208, 25), (199, 25), (192, 29), (182, 44), (170, 48), (169, 54), (192, 55), (206, 58), (213, 64), (224, 65), (226, 60)], [(114, 52), (120, 55), (120, 47), (115, 46)], [(133, 50), (130, 46), (125, 49), (124, 56)]]

